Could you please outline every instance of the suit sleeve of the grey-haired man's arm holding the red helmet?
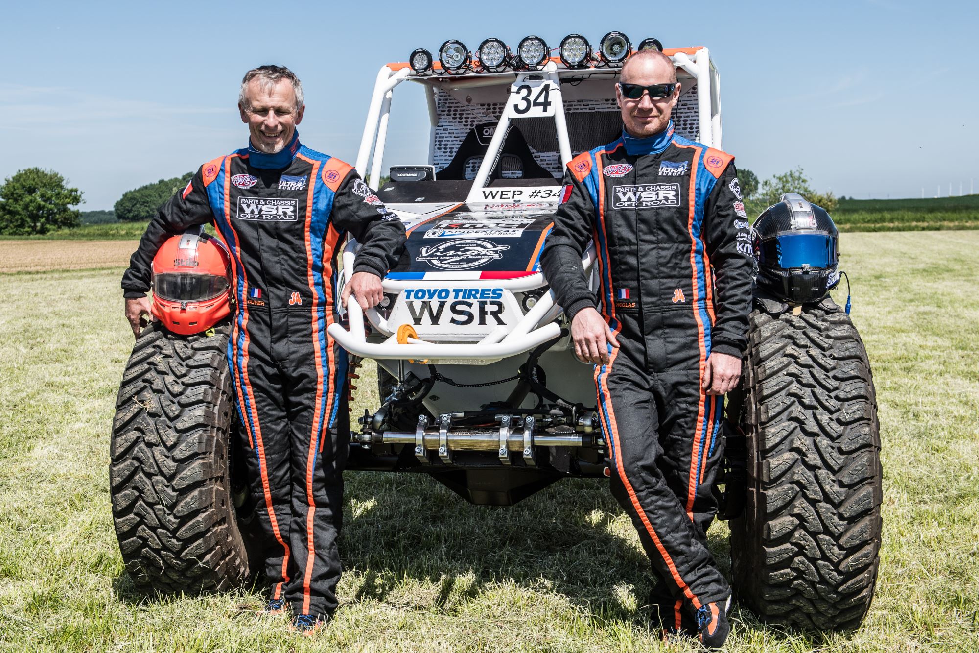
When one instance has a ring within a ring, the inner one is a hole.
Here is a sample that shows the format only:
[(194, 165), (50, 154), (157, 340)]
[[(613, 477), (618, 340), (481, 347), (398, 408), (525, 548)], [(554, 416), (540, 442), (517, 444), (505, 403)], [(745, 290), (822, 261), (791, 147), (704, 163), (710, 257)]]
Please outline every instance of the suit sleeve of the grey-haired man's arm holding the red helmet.
[(207, 225), (213, 220), (201, 172), (203, 168), (198, 168), (190, 183), (160, 207), (156, 218), (143, 232), (139, 246), (129, 259), (129, 268), (122, 275), (122, 296), (126, 299), (145, 297), (149, 292), (153, 257), (167, 238), (179, 235), (191, 226)]

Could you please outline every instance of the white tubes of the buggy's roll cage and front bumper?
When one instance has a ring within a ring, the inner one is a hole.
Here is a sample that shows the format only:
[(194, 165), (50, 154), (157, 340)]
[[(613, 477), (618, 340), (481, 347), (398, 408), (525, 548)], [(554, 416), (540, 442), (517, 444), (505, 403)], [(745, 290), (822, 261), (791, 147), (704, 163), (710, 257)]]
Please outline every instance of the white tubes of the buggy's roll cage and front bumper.
[[(706, 47), (684, 48), (682, 50), (667, 50), (665, 52), (674, 62), (677, 69), (682, 69), (685, 73), (693, 77), (697, 84), (697, 114), (700, 126), (697, 140), (705, 145), (721, 149), (723, 141), (721, 137), (721, 100), (720, 100), (720, 77), (717, 69), (710, 59), (710, 53)], [(370, 166), (370, 179), (376, 183), (381, 178), (381, 167), (384, 160), (384, 148), (388, 134), (388, 120), (391, 115), (391, 100), (395, 87), (406, 79), (427, 80), (451, 78), (454, 84), (464, 85), (465, 83), (479, 83), (480, 79), (486, 77), (512, 78), (513, 86), (519, 82), (549, 80), (553, 83), (551, 89), (551, 100), (554, 103), (554, 126), (557, 134), (558, 151), (560, 152), (562, 166), (567, 166), (573, 158), (571, 142), (568, 137), (568, 126), (565, 122), (564, 101), (561, 92), (561, 77), (571, 75), (582, 75), (588, 71), (569, 70), (559, 68), (557, 59), (550, 59), (540, 70), (537, 71), (507, 71), (504, 73), (479, 73), (466, 75), (453, 75), (449, 77), (431, 77), (427, 75), (417, 75), (407, 65), (385, 65), (377, 74), (374, 84), (374, 93), (371, 96), (370, 107), (367, 111), (367, 121), (364, 126), (363, 136), (360, 139), (360, 149), (357, 152), (355, 169), (360, 176), (368, 170)], [(592, 71), (594, 72), (594, 71)], [(485, 82), (483, 82), (485, 83)], [(511, 86), (511, 90), (513, 89)], [(439, 124), (439, 116), (436, 107), (437, 85), (433, 83), (425, 84), (425, 95), (429, 108), (430, 136), (429, 152), (433, 150), (435, 142), (436, 126)], [(495, 165), (497, 156), (503, 146), (506, 133), (510, 124), (519, 116), (512, 111), (512, 104), (507, 101), (500, 115), (496, 129), (493, 132), (489, 147), (479, 166), (479, 170), (473, 180), (472, 187), (466, 198), (466, 203), (478, 204), (481, 199), (480, 190), (487, 186), (489, 174)], [(708, 126), (708, 128), (704, 128)], [(431, 161), (430, 161), (431, 163)], [(350, 281), (353, 271), (353, 259), (356, 253), (357, 243), (350, 238), (344, 248), (343, 253), (343, 275), (344, 283)], [(595, 261), (594, 247), (589, 246), (584, 253), (582, 265), (586, 273), (591, 273)], [(589, 275), (594, 286), (595, 276)], [(491, 283), (494, 287), (502, 287), (510, 291), (530, 290), (544, 285), (545, 281), (540, 273), (531, 276), (521, 276), (513, 279), (493, 279), (491, 281), (469, 280), (467, 284), (478, 285), (481, 283)], [(417, 285), (418, 281), (402, 281), (398, 279), (385, 278), (383, 288), (386, 293), (399, 292), (408, 285)], [(463, 362), (463, 363), (490, 363), (509, 356), (515, 356), (531, 349), (537, 345), (556, 338), (561, 331), (560, 326), (553, 320), (560, 314), (561, 309), (554, 303), (554, 292), (548, 290), (536, 302), (536, 305), (527, 311), (520, 321), (513, 326), (509, 332), (505, 327), (498, 327), (483, 337), (479, 342), (466, 344), (445, 344), (420, 340), (414, 337), (407, 337), (402, 341), (397, 340), (397, 326), (391, 326), (375, 309), (367, 311), (367, 317), (372, 326), (386, 336), (383, 342), (368, 342), (364, 330), (364, 312), (355, 301), (349, 301), (347, 305), (347, 315), (350, 322), (350, 330), (345, 329), (339, 324), (330, 325), (328, 332), (350, 353), (380, 360), (396, 359), (429, 359), (432, 361), (443, 360), (444, 362)], [(539, 326), (538, 325), (541, 325)]]

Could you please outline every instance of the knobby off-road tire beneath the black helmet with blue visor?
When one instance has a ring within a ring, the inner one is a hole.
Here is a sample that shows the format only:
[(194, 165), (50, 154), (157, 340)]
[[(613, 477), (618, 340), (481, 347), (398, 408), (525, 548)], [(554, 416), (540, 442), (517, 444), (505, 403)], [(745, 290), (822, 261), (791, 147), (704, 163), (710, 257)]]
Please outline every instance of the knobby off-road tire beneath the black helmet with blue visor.
[(870, 364), (831, 302), (756, 310), (745, 361), (748, 496), (731, 521), (739, 600), (770, 624), (850, 630), (880, 549), (880, 435)]

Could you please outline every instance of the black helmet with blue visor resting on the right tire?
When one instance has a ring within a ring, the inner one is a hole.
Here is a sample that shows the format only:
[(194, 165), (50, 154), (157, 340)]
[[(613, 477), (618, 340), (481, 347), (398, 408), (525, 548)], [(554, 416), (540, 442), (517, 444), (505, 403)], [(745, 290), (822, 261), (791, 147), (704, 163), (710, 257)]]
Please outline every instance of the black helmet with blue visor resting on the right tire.
[(782, 195), (753, 231), (760, 289), (803, 304), (822, 299), (840, 282), (840, 232), (825, 209), (802, 195)]

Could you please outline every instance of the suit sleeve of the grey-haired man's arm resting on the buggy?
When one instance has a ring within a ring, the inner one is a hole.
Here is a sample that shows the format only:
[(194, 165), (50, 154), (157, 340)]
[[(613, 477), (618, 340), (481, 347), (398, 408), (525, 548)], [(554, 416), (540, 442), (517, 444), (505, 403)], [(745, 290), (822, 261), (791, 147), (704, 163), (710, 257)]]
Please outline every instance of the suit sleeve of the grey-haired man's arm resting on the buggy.
[(354, 273), (384, 278), (395, 267), (404, 247), (404, 225), (355, 171), (351, 170), (337, 188), (330, 219), (360, 243), (353, 260)]

